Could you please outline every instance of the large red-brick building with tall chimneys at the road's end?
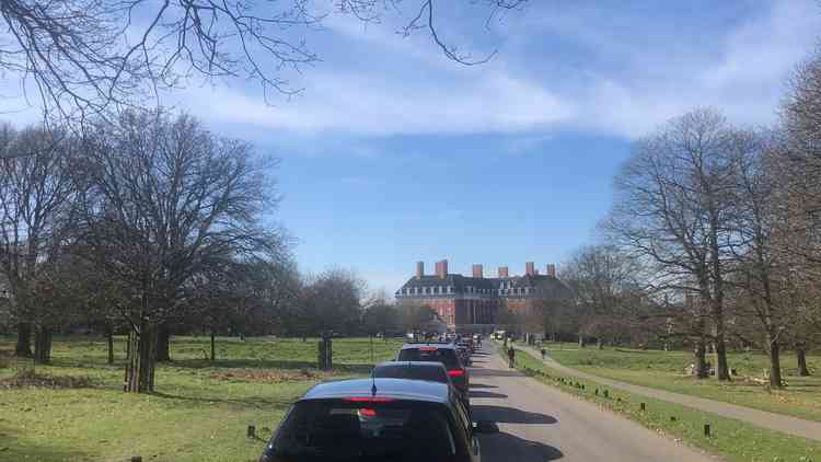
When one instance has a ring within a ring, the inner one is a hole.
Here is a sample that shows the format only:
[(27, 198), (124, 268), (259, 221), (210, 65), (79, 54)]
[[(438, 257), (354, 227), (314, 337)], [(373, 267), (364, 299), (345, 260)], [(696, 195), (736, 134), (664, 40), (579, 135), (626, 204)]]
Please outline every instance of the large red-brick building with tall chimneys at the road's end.
[(567, 287), (556, 278), (556, 266), (546, 265), (539, 274), (533, 262), (524, 265), (524, 275), (510, 276), (508, 267), (497, 277), (485, 277), (482, 265), (463, 276), (448, 272), (448, 261), (436, 263), (433, 275), (425, 274), (425, 263), (416, 263), (416, 274), (395, 292), (400, 304), (428, 305), (448, 328), (456, 332), (490, 332), (499, 310), (531, 313), (539, 300), (566, 297)]

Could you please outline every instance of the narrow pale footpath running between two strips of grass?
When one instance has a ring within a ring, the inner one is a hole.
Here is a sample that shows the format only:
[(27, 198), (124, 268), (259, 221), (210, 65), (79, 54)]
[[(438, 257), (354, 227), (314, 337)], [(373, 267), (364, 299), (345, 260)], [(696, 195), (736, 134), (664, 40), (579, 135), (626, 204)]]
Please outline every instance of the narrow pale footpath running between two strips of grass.
[[(540, 354), (529, 347), (519, 347), (536, 359)], [(525, 354), (527, 354), (525, 353)], [(631, 393), (644, 396), (655, 397), (657, 400), (678, 403), (690, 407), (695, 407), (704, 412), (718, 414), (720, 416), (744, 420), (759, 427), (768, 428), (774, 431), (780, 431), (797, 437), (821, 441), (821, 421), (807, 420), (798, 417), (786, 416), (783, 414), (768, 413), (766, 411), (753, 409), (751, 407), (739, 406), (720, 401), (707, 400), (704, 397), (692, 396), (681, 393), (669, 392), (664, 390), (651, 389), (648, 386), (634, 385), (632, 383), (620, 382), (617, 380), (604, 379), (580, 370), (562, 366), (552, 358), (544, 361), (545, 366), (556, 369), (567, 376), (587, 379), (593, 382), (602, 383), (614, 389), (624, 390)]]

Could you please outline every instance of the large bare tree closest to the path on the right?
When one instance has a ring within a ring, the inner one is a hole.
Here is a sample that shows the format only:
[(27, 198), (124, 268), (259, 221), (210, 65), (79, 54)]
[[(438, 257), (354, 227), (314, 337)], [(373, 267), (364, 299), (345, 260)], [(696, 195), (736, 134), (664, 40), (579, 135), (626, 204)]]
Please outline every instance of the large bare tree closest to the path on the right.
[(706, 311), (697, 317), (709, 317), (719, 380), (730, 380), (724, 313), (733, 245), (728, 151), (728, 125), (716, 111), (672, 119), (638, 142), (616, 177), (616, 203), (604, 223), (620, 247), (651, 262), (658, 288), (698, 297), (695, 305)]

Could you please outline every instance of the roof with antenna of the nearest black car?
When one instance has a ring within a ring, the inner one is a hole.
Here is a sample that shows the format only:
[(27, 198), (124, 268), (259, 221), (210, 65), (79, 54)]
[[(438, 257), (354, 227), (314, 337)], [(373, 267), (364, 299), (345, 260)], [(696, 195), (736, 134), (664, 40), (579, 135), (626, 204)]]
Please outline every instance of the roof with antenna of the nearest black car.
[[(375, 386), (375, 394), (373, 388)], [(447, 383), (408, 379), (351, 379), (314, 385), (300, 401), (346, 397), (393, 397), (396, 400), (447, 403), (450, 386)]]

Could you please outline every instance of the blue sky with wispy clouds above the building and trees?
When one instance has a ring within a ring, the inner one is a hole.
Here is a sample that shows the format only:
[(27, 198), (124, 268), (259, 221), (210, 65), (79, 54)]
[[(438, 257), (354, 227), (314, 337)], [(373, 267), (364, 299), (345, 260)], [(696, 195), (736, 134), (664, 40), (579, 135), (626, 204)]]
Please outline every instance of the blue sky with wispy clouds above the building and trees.
[(496, 50), (481, 66), (397, 34), (401, 5), (367, 26), (328, 16), (305, 37), (322, 60), (289, 74), (293, 97), (266, 104), (234, 80), (164, 103), (281, 160), (267, 220), (294, 236), (301, 270), (349, 268), (390, 294), (417, 261), (560, 264), (597, 239), (639, 137), (697, 106), (775, 123), (821, 31), (816, 0), (532, 0), (487, 24), (471, 3), (440, 1), (437, 23), (474, 57)]

